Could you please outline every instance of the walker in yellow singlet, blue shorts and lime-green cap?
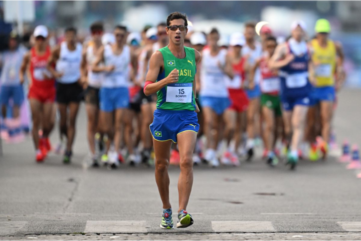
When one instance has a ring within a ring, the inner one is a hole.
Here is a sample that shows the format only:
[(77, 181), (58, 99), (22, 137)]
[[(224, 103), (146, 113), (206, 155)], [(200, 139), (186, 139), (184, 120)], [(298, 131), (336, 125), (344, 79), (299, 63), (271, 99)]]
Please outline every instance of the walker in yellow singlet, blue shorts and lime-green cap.
[[(322, 141), (320, 150), (323, 158), (327, 154), (327, 143), (330, 136), (332, 107), (335, 101), (335, 91), (337, 91), (344, 81), (344, 71), (342, 68), (343, 51), (339, 43), (328, 38), (330, 24), (325, 19), (319, 19), (315, 25), (316, 38), (311, 40), (309, 45), (312, 52), (312, 73), (311, 82), (313, 84), (313, 100), (315, 106), (310, 110), (311, 116), (315, 117), (320, 113), (320, 126)], [(314, 125), (314, 121), (310, 121)]]

